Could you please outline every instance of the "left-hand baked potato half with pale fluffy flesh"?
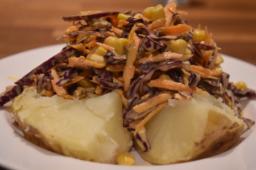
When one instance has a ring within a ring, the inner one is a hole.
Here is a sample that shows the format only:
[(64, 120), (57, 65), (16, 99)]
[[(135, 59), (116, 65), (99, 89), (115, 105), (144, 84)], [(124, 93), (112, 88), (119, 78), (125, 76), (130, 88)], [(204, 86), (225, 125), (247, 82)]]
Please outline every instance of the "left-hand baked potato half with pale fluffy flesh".
[(67, 100), (42, 97), (31, 87), (16, 97), (13, 110), (28, 141), (59, 154), (116, 163), (132, 145), (131, 134), (122, 126), (122, 101), (116, 92)]

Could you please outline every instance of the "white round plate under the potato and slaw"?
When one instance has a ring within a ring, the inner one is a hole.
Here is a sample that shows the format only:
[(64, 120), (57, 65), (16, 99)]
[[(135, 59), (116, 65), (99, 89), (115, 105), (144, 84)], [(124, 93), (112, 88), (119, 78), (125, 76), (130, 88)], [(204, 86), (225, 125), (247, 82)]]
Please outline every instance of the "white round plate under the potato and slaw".
[[(6, 86), (13, 84), (34, 67), (59, 52), (63, 46), (64, 44), (46, 46), (1, 59), (0, 91), (4, 91)], [(230, 74), (230, 80), (234, 82), (243, 80), (247, 86), (256, 89), (256, 66), (226, 55), (222, 56), (225, 60), (222, 67), (226, 73)], [(255, 100), (246, 103), (244, 116), (256, 120)], [(240, 141), (238, 141), (238, 145), (211, 158), (173, 165), (121, 167), (120, 165), (93, 163), (68, 158), (44, 150), (17, 134), (11, 127), (10, 121), (9, 113), (0, 108), (0, 165), (9, 169), (256, 169), (254, 157), (256, 155), (255, 126), (249, 130), (245, 129)], [(138, 159), (136, 163), (142, 163), (142, 160)]]

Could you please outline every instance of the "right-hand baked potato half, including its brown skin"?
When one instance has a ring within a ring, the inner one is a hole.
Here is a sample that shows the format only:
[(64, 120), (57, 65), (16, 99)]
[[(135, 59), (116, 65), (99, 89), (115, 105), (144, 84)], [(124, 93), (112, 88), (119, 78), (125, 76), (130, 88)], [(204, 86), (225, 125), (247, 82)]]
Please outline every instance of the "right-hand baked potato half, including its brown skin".
[(150, 163), (187, 162), (220, 154), (240, 137), (245, 123), (209, 94), (192, 100), (169, 100), (145, 125), (151, 150), (141, 152)]

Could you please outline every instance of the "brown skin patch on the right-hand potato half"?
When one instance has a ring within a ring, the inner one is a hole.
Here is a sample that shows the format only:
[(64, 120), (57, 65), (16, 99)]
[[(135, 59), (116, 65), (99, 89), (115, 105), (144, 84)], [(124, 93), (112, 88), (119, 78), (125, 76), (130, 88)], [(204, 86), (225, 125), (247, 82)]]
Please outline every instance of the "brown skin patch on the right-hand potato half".
[(204, 137), (200, 143), (195, 143), (190, 159), (186, 162), (208, 158), (229, 150), (240, 138), (244, 126), (245, 124), (232, 123), (220, 113), (209, 111)]

